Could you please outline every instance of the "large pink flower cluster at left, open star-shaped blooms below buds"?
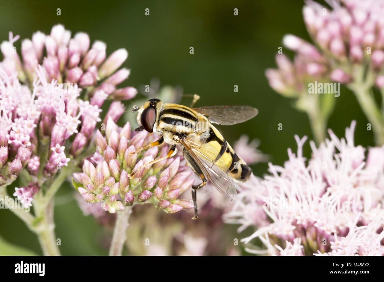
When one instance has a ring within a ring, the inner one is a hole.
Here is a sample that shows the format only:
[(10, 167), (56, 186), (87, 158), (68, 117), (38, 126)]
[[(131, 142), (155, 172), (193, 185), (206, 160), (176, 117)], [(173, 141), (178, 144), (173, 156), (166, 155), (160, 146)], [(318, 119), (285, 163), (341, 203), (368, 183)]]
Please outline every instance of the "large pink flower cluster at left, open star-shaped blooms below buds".
[[(17, 39), (10, 32), (0, 45), (0, 185), (12, 183), (23, 168), (41, 185), (87, 148), (106, 99), (131, 99), (137, 91), (117, 88), (129, 76), (125, 68), (115, 72), (127, 58), (125, 49), (107, 58), (103, 42), (89, 48), (86, 33), (71, 38), (56, 25), (50, 35), (38, 31), (23, 40), (21, 60)], [(105, 118), (117, 120), (123, 112), (114, 101)]]

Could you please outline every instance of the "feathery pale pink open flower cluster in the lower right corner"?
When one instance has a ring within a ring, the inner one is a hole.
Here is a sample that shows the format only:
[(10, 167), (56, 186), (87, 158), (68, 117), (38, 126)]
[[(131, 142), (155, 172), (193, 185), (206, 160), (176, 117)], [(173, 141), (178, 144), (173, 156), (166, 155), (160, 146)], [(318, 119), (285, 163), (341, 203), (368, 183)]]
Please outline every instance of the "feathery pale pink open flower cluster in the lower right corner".
[[(225, 217), (230, 223), (257, 227), (266, 249), (254, 253), (384, 255), (384, 147), (355, 146), (356, 122), (345, 139), (330, 139), (306, 162), (299, 139), (297, 155), (288, 149), (283, 167), (269, 164), (271, 175), (253, 177)], [(300, 239), (300, 240), (299, 240)]]

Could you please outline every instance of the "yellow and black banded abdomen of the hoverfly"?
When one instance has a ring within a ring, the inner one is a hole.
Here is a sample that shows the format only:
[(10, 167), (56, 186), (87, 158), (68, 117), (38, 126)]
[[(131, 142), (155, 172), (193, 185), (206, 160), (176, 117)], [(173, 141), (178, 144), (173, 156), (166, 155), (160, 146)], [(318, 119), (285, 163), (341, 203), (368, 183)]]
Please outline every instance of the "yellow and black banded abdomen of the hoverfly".
[(209, 137), (202, 149), (209, 150), (209, 147), (213, 147), (212, 151), (218, 152), (216, 156), (212, 156), (214, 164), (222, 167), (233, 180), (240, 182), (248, 180), (252, 169), (235, 153), (220, 132), (214, 126), (210, 127)]

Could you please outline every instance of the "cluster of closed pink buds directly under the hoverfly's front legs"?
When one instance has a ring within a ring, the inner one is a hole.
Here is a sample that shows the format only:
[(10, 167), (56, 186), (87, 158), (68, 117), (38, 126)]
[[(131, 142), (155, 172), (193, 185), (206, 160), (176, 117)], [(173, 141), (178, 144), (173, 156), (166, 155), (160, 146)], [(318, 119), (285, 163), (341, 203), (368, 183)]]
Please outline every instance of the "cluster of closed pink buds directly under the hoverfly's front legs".
[(105, 137), (98, 130), (97, 152), (84, 160), (83, 172), (74, 173), (74, 186), (88, 203), (101, 203), (104, 211), (114, 213), (136, 203), (152, 203), (167, 213), (193, 207), (193, 203), (179, 199), (179, 195), (194, 183), (190, 168), (180, 164), (179, 155), (147, 165), (130, 179), (128, 174), (137, 168), (166, 156), (169, 148), (162, 146), (142, 150), (158, 139), (157, 134), (132, 132), (127, 122), (118, 127), (109, 117)]

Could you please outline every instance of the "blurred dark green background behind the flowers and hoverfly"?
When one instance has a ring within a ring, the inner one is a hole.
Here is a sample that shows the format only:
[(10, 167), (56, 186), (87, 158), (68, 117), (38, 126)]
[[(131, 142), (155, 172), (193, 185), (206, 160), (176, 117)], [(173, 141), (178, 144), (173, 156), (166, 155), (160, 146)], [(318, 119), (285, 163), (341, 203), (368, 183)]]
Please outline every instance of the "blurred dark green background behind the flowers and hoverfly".
[[(129, 57), (124, 67), (131, 69), (123, 86), (149, 84), (159, 78), (161, 86), (181, 86), (184, 93), (199, 94), (197, 106), (248, 104), (258, 108), (254, 119), (230, 127), (219, 127), (233, 143), (241, 134), (260, 139), (259, 147), (271, 162), (282, 165), (287, 148), (296, 151), (293, 137), (308, 135), (311, 128), (305, 113), (291, 105), (293, 101), (274, 92), (264, 76), (266, 68), (275, 67), (275, 54), (286, 33), (309, 40), (301, 14), (300, 0), (270, 1), (2, 1), (0, 8), (0, 41), (8, 32), (31, 38), (40, 30), (49, 34), (51, 27), (62, 23), (72, 31), (84, 31), (91, 42), (107, 43), (107, 54), (126, 48)], [(56, 15), (56, 9), (61, 15)], [(145, 9), (150, 9), (146, 16)], [(238, 16), (233, 9), (238, 8)], [(15, 46), (20, 50), (21, 41)], [(194, 47), (194, 54), (189, 47)], [(293, 53), (283, 48), (283, 53)], [(233, 86), (238, 85), (238, 92)], [(140, 97), (138, 95), (137, 97)], [(143, 96), (141, 96), (143, 98)], [(355, 97), (341, 89), (336, 109), (328, 128), (339, 137), (351, 120), (357, 120), (355, 142), (374, 145), (367, 120)], [(190, 99), (184, 98), (185, 105)], [(126, 103), (127, 107), (132, 104)], [(283, 130), (278, 130), (278, 124)], [(310, 147), (305, 146), (310, 157)], [(265, 163), (253, 166), (255, 175), (267, 172)], [(102, 228), (94, 218), (84, 217), (71, 200), (68, 183), (58, 193), (55, 208), (56, 234), (61, 238), (62, 254), (107, 254), (99, 244)], [(8, 242), (41, 254), (36, 236), (10, 211), (0, 211), (0, 236)], [(70, 244), (67, 244), (70, 242)], [(5, 250), (0, 240), (0, 250)]]

